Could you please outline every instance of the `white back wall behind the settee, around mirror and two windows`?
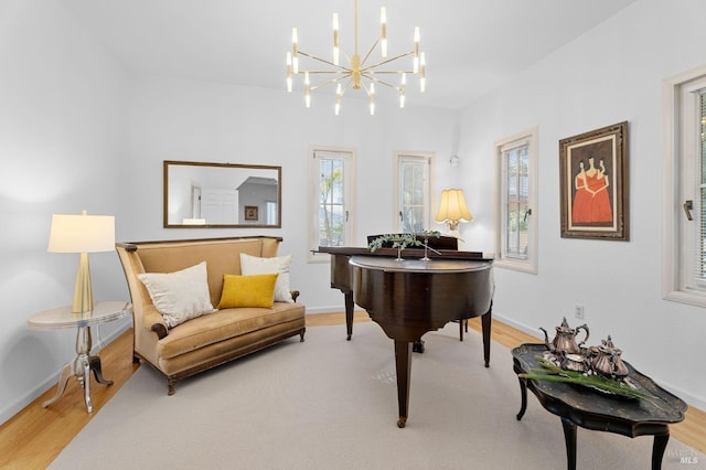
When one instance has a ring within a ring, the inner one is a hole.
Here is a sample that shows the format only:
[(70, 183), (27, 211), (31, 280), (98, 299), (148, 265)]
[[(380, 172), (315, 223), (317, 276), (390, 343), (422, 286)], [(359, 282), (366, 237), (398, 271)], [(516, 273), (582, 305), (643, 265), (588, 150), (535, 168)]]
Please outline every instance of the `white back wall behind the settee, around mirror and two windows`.
[[(328, 264), (307, 263), (309, 147), (357, 150), (361, 246), (367, 234), (394, 229), (396, 150), (436, 152), (440, 167), (449, 167), (456, 115), (447, 110), (392, 105), (370, 116), (367, 100), (346, 96), (336, 117), (330, 98), (314, 97), (307, 109), (302, 96), (284, 90), (154, 77), (136, 79), (130, 96), (129, 151), (120, 171), (131, 191), (119, 204), (120, 218), (129, 222), (118, 227), (118, 237), (282, 236), (280, 254), (292, 254), (292, 287), (310, 313), (342, 310), (343, 296), (330, 288)], [(162, 228), (163, 160), (281, 165), (282, 228)], [(442, 168), (440, 173), (453, 175)]]

